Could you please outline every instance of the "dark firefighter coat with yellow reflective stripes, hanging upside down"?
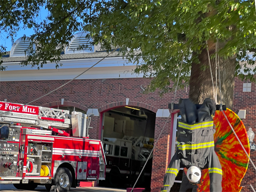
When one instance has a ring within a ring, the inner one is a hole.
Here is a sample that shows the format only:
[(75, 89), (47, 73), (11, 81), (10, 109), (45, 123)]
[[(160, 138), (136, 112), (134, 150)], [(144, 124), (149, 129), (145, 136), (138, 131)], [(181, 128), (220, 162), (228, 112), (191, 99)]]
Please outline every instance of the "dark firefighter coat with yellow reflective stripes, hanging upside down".
[[(177, 138), (177, 150), (166, 170), (161, 192), (169, 192), (180, 168), (198, 166), (200, 169), (208, 169), (210, 177), (210, 192), (221, 192), (222, 169), (218, 156), (214, 151), (213, 121), (199, 122), (192, 125), (179, 122)], [(183, 175), (184, 176), (184, 175)], [(193, 188), (196, 185), (188, 185), (187, 177), (183, 177), (180, 191)]]

